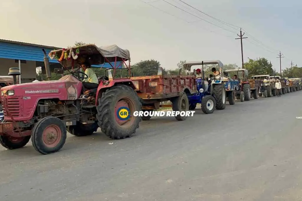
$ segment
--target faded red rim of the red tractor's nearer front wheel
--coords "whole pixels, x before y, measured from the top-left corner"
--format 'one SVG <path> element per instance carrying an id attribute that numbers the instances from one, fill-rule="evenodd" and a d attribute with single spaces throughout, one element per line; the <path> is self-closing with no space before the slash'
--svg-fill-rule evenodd
<path id="1" fill-rule="evenodd" d="M 62 131 L 57 125 L 49 125 L 43 131 L 43 142 L 47 147 L 55 147 L 59 144 Z"/>

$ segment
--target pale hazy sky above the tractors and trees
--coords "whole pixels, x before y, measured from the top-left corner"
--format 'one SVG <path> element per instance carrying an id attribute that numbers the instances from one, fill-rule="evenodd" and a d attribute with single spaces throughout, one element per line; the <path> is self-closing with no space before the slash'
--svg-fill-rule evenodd
<path id="1" fill-rule="evenodd" d="M 132 64 L 154 59 L 166 69 L 213 59 L 241 67 L 235 38 L 242 27 L 245 62 L 265 57 L 279 72 L 281 51 L 282 69 L 302 65 L 302 1 L 182 1 L 228 24 L 179 0 L 9 0 L 0 1 L 0 39 L 62 48 L 115 44 L 130 51 Z"/>

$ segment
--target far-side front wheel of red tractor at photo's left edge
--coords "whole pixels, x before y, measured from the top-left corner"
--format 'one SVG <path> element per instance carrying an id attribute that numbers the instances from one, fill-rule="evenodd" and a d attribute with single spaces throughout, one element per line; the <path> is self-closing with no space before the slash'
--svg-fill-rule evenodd
<path id="1" fill-rule="evenodd" d="M 25 137 L 11 137 L 11 136 L 0 136 L 0 143 L 6 149 L 19 149 L 24 147 L 31 139 L 31 136 Z"/>

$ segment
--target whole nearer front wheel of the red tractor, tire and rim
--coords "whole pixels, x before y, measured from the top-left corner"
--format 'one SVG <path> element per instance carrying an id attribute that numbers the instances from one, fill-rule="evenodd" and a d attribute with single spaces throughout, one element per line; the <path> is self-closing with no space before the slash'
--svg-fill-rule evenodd
<path id="1" fill-rule="evenodd" d="M 59 118 L 48 116 L 40 119 L 31 132 L 31 142 L 37 152 L 49 154 L 59 151 L 67 137 L 66 125 Z"/>

